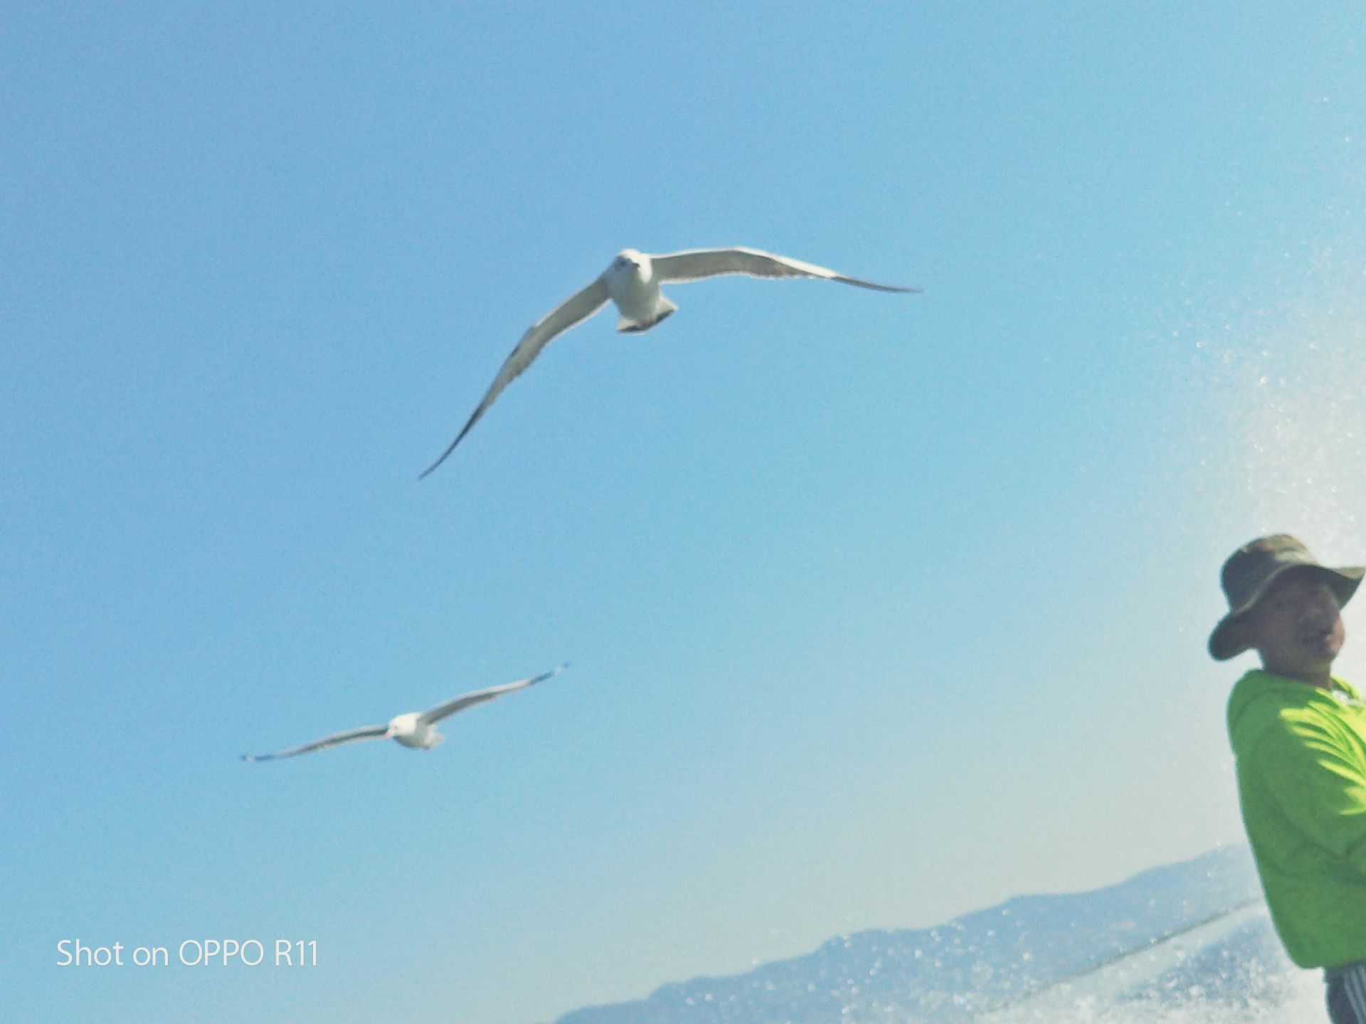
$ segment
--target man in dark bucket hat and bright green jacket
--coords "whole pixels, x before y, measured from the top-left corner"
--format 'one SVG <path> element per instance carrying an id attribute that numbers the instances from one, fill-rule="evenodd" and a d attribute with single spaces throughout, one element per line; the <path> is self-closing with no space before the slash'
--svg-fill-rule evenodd
<path id="1" fill-rule="evenodd" d="M 1261 537 L 1224 563 L 1229 610 L 1209 638 L 1217 661 L 1262 661 L 1228 699 L 1243 825 L 1276 933 L 1324 968 L 1333 1024 L 1366 1024 L 1366 703 L 1332 674 L 1363 575 Z"/>

